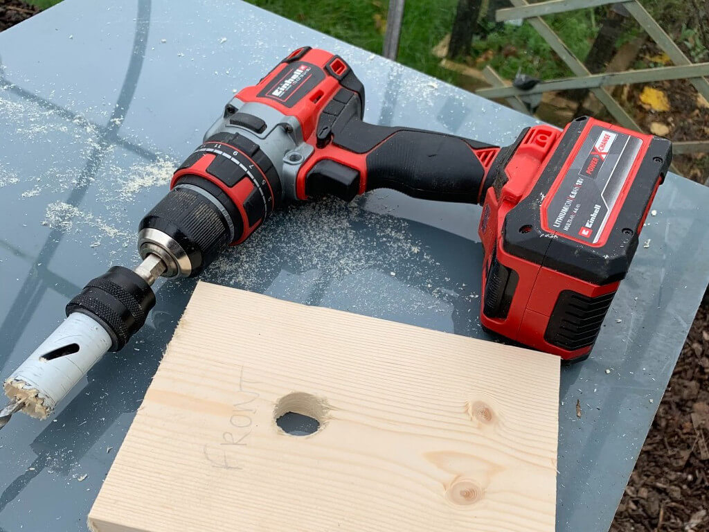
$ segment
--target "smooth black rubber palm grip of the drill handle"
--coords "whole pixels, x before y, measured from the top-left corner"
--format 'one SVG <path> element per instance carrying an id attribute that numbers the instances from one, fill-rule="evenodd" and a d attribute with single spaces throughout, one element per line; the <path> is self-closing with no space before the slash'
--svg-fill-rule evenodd
<path id="1" fill-rule="evenodd" d="M 379 126 L 362 123 L 377 135 Z M 391 131 L 391 128 L 383 128 Z M 396 130 L 367 155 L 367 190 L 394 189 L 408 196 L 477 203 L 485 169 L 473 148 L 487 145 L 429 131 Z"/>

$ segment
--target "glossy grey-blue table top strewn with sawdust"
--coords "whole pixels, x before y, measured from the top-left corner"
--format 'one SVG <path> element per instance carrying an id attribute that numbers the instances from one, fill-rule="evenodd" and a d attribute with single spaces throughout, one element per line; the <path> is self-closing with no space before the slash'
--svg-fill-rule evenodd
<path id="1" fill-rule="evenodd" d="M 65 0 L 0 34 L 2 375 L 88 279 L 135 264 L 139 219 L 233 89 L 306 44 L 350 62 L 368 121 L 495 144 L 533 123 L 238 1 Z M 562 368 L 558 531 L 605 531 L 613 519 L 708 281 L 708 205 L 708 189 L 667 177 L 643 229 L 649 247 L 638 249 L 591 358 Z M 487 338 L 478 217 L 476 206 L 387 191 L 324 201 L 273 216 L 203 278 Z M 85 529 L 193 287 L 163 284 L 143 331 L 61 411 L 45 423 L 16 416 L 0 433 L 0 531 Z"/>

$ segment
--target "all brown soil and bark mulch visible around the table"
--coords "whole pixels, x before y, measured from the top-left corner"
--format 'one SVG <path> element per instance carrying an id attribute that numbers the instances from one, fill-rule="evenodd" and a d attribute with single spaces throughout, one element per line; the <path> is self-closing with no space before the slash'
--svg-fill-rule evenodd
<path id="1" fill-rule="evenodd" d="M 0 0 L 0 31 L 39 10 L 21 0 Z M 673 140 L 705 138 L 708 112 L 686 82 L 654 85 L 669 94 L 674 113 L 648 112 L 643 125 L 661 121 Z M 622 99 L 639 98 L 633 87 Z M 696 114 L 696 116 L 693 116 Z M 693 118 L 688 121 L 687 118 Z M 678 157 L 681 171 L 703 181 L 709 156 Z M 657 416 L 625 488 L 612 532 L 709 532 L 709 303 L 698 310 Z"/>

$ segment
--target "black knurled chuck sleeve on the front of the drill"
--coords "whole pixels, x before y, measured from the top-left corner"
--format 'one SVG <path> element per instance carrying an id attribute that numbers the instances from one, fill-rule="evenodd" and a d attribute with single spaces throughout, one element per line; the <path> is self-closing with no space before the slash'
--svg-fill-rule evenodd
<path id="1" fill-rule="evenodd" d="M 206 196 L 175 188 L 140 221 L 140 230 L 152 228 L 171 236 L 189 257 L 190 277 L 199 275 L 226 248 L 230 228 L 225 214 Z"/>

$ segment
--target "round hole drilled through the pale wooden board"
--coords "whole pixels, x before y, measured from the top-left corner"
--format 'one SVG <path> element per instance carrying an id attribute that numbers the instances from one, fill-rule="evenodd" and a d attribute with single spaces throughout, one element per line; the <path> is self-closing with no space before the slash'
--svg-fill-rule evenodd
<path id="1" fill-rule="evenodd" d="M 328 410 L 324 399 L 293 392 L 277 401 L 273 417 L 281 432 L 290 436 L 309 436 L 322 430 Z"/>

